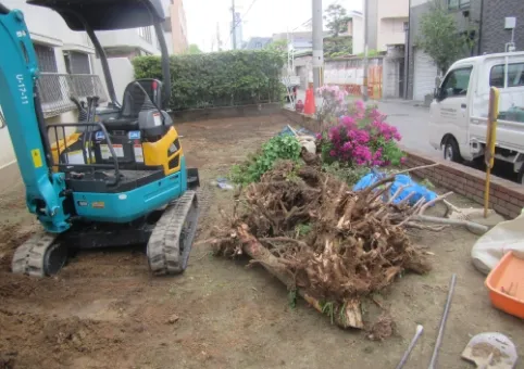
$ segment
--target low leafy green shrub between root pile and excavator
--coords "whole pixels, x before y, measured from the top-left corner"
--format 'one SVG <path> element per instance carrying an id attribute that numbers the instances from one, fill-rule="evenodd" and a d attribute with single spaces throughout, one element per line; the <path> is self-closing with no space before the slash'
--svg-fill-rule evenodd
<path id="1" fill-rule="evenodd" d="M 262 145 L 262 149 L 254 155 L 240 164 L 234 165 L 230 171 L 230 180 L 237 184 L 249 184 L 258 182 L 260 177 L 273 168 L 279 160 L 298 161 L 302 147 L 296 137 L 277 136 Z"/>

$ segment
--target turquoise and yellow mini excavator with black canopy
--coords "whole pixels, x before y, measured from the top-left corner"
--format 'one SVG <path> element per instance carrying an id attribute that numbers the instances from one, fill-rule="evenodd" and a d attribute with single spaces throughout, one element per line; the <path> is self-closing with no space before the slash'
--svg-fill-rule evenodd
<path id="1" fill-rule="evenodd" d="M 72 100 L 77 123 L 46 124 L 39 69 L 20 10 L 0 2 L 0 106 L 9 129 L 26 203 L 42 230 L 21 244 L 12 271 L 57 273 L 74 249 L 147 245 L 154 275 L 182 273 L 195 238 L 198 169 L 187 168 L 173 120 L 170 58 L 160 0 L 27 0 L 86 31 L 100 58 L 110 102 Z M 162 52 L 162 79 L 138 79 L 122 104 L 95 31 L 153 26 Z"/>

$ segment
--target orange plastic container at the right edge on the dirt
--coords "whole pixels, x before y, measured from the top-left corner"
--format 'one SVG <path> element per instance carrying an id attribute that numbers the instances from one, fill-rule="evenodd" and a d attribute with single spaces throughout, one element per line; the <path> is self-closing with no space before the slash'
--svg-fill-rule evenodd
<path id="1" fill-rule="evenodd" d="M 524 259 L 507 253 L 489 272 L 486 287 L 497 308 L 524 319 Z"/>

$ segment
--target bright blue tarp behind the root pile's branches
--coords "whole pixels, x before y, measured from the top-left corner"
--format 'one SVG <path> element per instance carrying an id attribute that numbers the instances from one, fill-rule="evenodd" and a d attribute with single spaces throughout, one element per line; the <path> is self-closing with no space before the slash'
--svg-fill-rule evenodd
<path id="1" fill-rule="evenodd" d="M 360 191 L 363 190 L 376 181 L 383 179 L 385 177 L 384 174 L 379 173 L 378 170 L 373 170 L 369 175 L 362 177 L 357 184 L 353 187 L 353 191 Z M 412 195 L 409 200 L 411 205 L 414 205 L 420 199 L 424 198 L 427 201 L 432 201 L 437 198 L 437 194 L 424 186 L 421 186 L 416 182 L 414 182 L 410 176 L 407 175 L 397 175 L 395 177 L 395 181 L 392 182 L 391 188 L 389 189 L 389 195 L 394 195 L 395 192 L 399 189 L 401 186 L 408 186 L 406 187 L 402 192 L 400 192 L 399 196 L 395 199 L 394 203 L 398 203 L 406 199 L 411 192 L 414 192 L 415 194 Z"/>

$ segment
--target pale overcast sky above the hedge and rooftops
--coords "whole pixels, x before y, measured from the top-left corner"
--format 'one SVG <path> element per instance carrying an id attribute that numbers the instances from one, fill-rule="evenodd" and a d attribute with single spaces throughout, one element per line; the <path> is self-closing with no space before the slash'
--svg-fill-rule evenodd
<path id="1" fill-rule="evenodd" d="M 253 2 L 254 1 L 254 2 Z M 339 3 L 346 10 L 362 10 L 362 0 L 323 0 L 323 8 Z M 244 15 L 244 40 L 250 37 L 271 37 L 299 27 L 311 18 L 311 0 L 235 0 L 235 8 Z M 229 23 L 232 0 L 184 0 L 189 43 L 211 51 L 212 42 L 216 50 L 216 25 L 219 24 L 224 49 L 229 49 Z M 297 30 L 305 30 L 299 28 Z"/>

